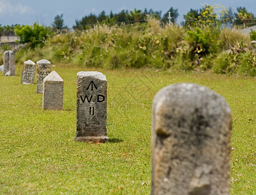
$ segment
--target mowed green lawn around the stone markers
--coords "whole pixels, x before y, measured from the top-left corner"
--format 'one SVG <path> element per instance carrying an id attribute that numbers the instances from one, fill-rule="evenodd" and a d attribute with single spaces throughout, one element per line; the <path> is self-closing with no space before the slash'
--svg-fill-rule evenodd
<path id="1" fill-rule="evenodd" d="M 36 85 L 20 84 L 21 70 L 16 65 L 16 77 L 0 72 L 0 194 L 150 194 L 152 99 L 173 83 L 205 85 L 229 103 L 231 194 L 256 194 L 254 77 L 57 64 L 63 110 L 46 111 Z M 107 77 L 106 144 L 74 142 L 79 71 Z"/>

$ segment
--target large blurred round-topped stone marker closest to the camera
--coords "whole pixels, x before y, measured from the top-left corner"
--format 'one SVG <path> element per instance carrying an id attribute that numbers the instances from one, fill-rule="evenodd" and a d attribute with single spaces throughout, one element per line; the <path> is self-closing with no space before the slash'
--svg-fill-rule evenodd
<path id="1" fill-rule="evenodd" d="M 231 110 L 205 86 L 170 85 L 152 105 L 152 194 L 229 194 Z"/>

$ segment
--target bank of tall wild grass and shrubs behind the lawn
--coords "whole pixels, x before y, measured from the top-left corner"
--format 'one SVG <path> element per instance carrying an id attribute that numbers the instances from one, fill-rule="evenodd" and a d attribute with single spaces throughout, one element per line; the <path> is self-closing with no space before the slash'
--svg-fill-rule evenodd
<path id="1" fill-rule="evenodd" d="M 214 67 L 217 73 L 255 75 L 254 70 L 248 70 L 253 68 L 253 64 L 248 64 L 247 68 L 235 68 L 232 72 L 225 69 L 228 66 L 218 65 L 221 62 L 219 57 L 223 58 L 221 52 L 236 45 L 241 46 L 239 52 L 242 53 L 251 49 L 249 35 L 238 30 L 221 29 L 216 25 L 179 27 L 162 25 L 156 19 L 149 19 L 147 23 L 98 24 L 85 31 L 56 34 L 46 41 L 44 47 L 31 49 L 28 44 L 18 49 L 16 61 L 22 64 L 29 59 L 35 62 L 48 59 L 53 64 L 63 62 L 106 69 L 147 66 L 201 71 Z M 240 62 L 253 62 L 248 59 L 250 55 L 240 57 Z M 236 66 L 242 66 L 240 62 Z"/>

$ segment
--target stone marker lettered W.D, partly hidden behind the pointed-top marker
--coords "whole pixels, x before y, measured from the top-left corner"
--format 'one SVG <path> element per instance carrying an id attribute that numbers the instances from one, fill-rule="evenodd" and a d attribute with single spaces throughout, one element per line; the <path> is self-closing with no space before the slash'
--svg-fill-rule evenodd
<path id="1" fill-rule="evenodd" d="M 48 60 L 40 60 L 36 62 L 37 66 L 37 90 L 36 93 L 42 94 L 44 78 L 51 72 L 51 62 Z"/>

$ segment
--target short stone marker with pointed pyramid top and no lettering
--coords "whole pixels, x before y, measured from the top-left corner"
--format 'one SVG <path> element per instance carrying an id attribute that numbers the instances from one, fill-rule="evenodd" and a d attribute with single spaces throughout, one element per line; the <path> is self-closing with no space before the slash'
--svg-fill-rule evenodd
<path id="1" fill-rule="evenodd" d="M 63 109 L 63 79 L 53 71 L 44 78 L 42 107 L 44 110 Z"/>

